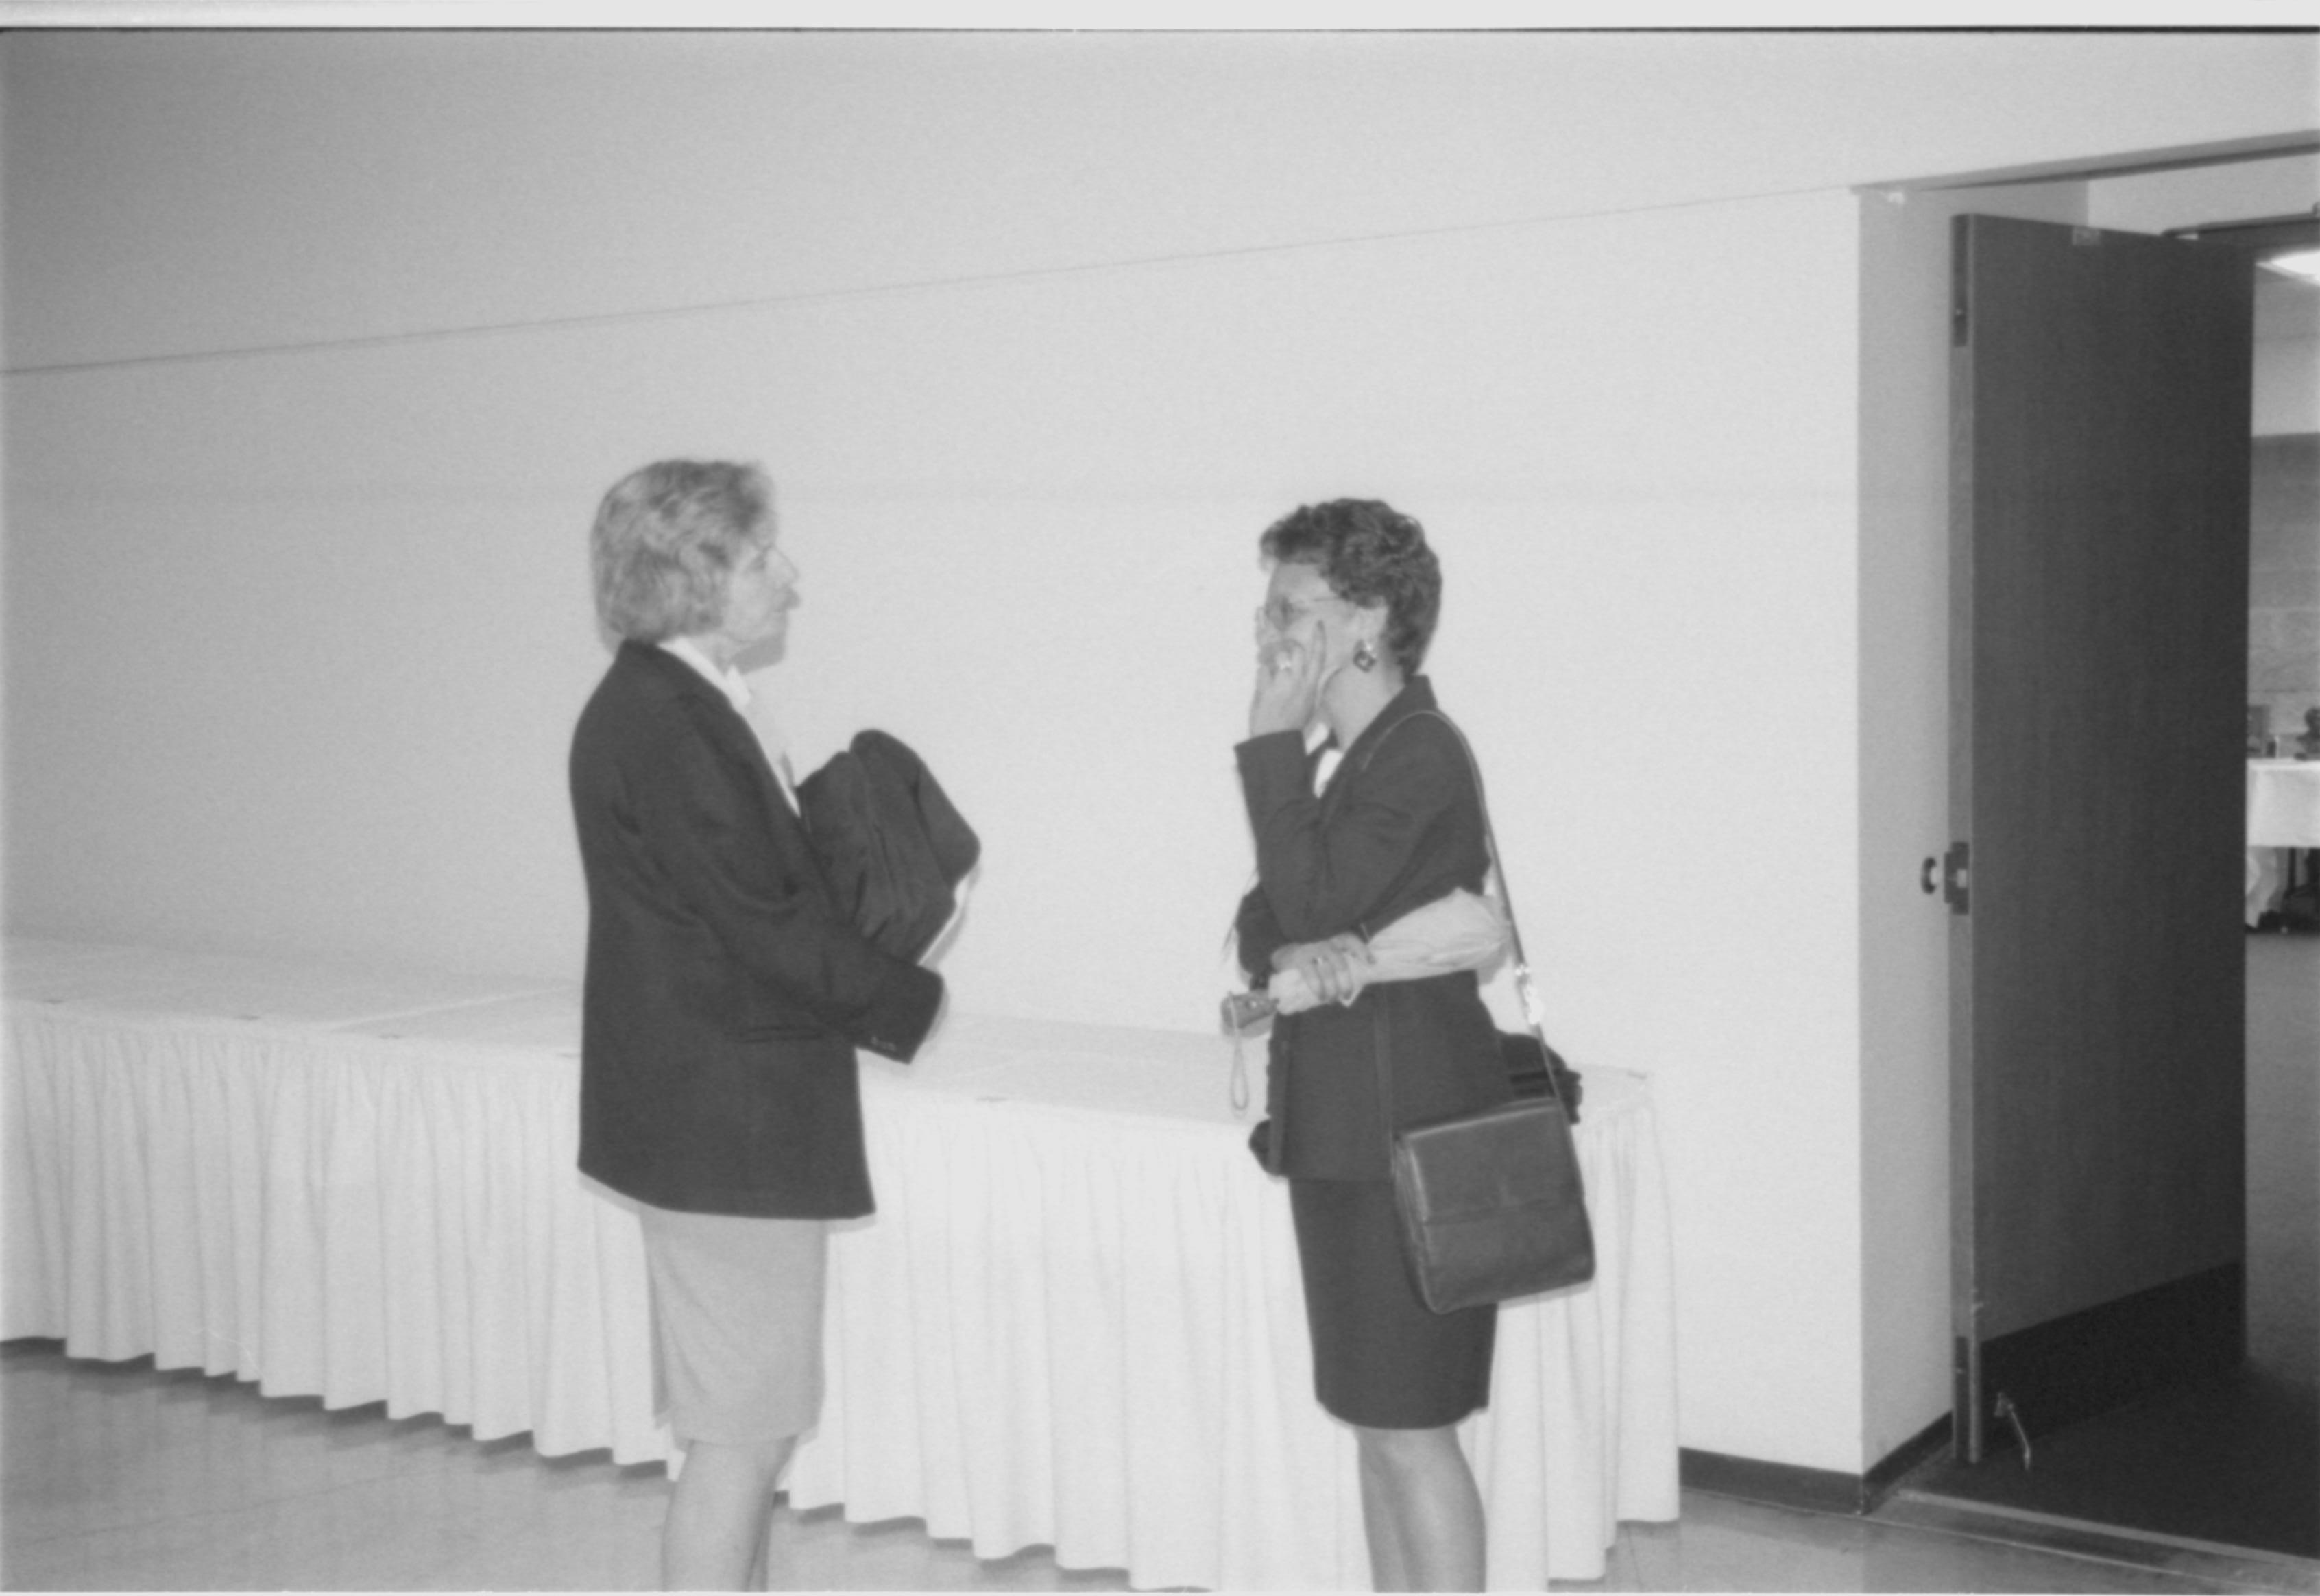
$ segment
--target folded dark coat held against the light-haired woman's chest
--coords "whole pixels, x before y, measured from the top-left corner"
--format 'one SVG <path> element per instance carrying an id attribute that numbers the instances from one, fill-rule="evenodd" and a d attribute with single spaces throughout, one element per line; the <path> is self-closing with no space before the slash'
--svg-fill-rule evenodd
<path id="1" fill-rule="evenodd" d="M 854 928 L 896 958 L 919 958 L 958 909 L 984 844 L 909 745 L 884 731 L 798 784 L 798 810 Z"/>

